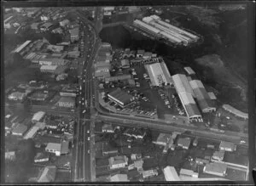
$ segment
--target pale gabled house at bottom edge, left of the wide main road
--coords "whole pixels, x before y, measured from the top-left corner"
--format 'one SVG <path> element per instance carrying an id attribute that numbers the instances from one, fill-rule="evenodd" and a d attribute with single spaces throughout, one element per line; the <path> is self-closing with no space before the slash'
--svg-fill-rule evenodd
<path id="1" fill-rule="evenodd" d="M 45 166 L 43 172 L 39 173 L 38 183 L 52 183 L 55 181 L 56 166 Z"/>

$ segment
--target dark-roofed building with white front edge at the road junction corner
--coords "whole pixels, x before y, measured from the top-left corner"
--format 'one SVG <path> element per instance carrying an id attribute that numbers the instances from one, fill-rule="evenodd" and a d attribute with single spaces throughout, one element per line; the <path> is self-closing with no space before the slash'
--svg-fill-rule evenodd
<path id="1" fill-rule="evenodd" d="M 125 107 L 127 104 L 131 104 L 131 102 L 134 100 L 130 94 L 122 91 L 120 88 L 117 88 L 113 92 L 108 93 L 108 98 L 119 104 L 121 107 Z"/>

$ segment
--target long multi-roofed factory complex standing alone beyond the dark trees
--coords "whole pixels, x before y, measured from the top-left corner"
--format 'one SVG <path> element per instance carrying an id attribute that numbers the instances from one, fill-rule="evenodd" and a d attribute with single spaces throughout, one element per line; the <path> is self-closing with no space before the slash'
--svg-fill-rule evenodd
<path id="1" fill-rule="evenodd" d="M 184 31 L 174 25 L 160 20 L 160 17 L 157 15 L 144 17 L 143 21 L 134 20 L 133 24 L 141 28 L 143 31 L 148 31 L 155 36 L 166 38 L 170 42 L 176 44 L 183 44 L 187 46 L 189 43 L 196 42 L 199 39 L 199 37 L 189 33 L 188 31 Z"/>

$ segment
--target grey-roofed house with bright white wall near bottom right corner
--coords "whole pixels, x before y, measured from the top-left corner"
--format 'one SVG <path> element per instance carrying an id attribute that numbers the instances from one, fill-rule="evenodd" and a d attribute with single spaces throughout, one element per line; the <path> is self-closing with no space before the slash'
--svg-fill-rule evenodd
<path id="1" fill-rule="evenodd" d="M 226 175 L 227 165 L 223 163 L 209 163 L 204 166 L 203 172 L 207 174 L 216 175 L 219 177 L 224 177 Z"/>

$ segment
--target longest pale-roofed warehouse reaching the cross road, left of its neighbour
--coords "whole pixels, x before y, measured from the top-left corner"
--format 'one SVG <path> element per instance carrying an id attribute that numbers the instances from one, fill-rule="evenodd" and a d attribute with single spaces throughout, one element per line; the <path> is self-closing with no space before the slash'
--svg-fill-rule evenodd
<path id="1" fill-rule="evenodd" d="M 172 76 L 174 87 L 176 88 L 177 95 L 181 100 L 183 107 L 186 111 L 189 121 L 197 121 L 201 119 L 201 113 L 197 108 L 193 98 L 193 90 L 190 87 L 187 77 L 183 74 L 176 74 Z"/>

